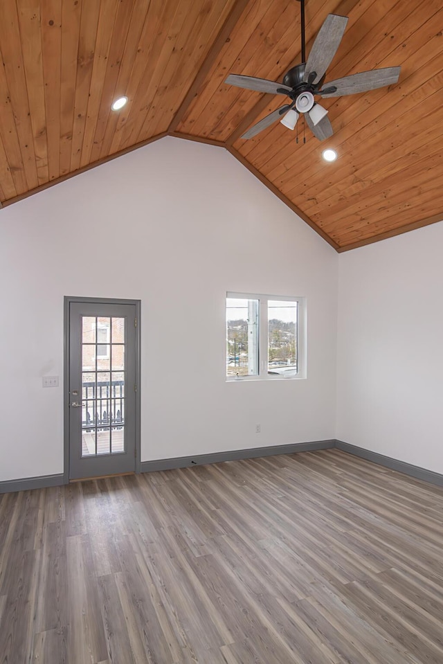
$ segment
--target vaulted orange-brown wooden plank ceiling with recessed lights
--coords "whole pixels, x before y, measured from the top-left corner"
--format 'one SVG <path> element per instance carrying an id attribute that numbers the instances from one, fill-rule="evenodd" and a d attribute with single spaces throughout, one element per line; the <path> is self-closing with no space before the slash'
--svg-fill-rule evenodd
<path id="1" fill-rule="evenodd" d="M 296 0 L 1 0 L 1 203 L 171 134 L 229 150 L 337 251 L 443 219 L 442 0 L 307 0 L 308 53 L 328 13 L 349 22 L 327 80 L 400 79 L 325 99 L 334 136 L 299 121 L 297 144 L 280 123 L 239 138 L 282 98 L 224 84 L 300 63 Z"/>

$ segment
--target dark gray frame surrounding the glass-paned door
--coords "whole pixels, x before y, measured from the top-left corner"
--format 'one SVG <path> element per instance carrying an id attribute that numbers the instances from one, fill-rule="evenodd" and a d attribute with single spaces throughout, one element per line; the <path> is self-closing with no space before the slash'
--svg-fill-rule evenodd
<path id="1" fill-rule="evenodd" d="M 71 302 L 80 302 L 88 304 L 107 304 L 107 305 L 135 305 L 136 307 L 136 463 L 135 472 L 141 472 L 141 300 L 126 300 L 120 298 L 82 298 L 74 296 L 64 296 L 64 334 L 63 334 L 63 356 L 64 356 L 64 374 L 63 374 L 63 429 L 64 429 L 64 463 L 63 463 L 63 483 L 69 484 L 69 312 Z"/>

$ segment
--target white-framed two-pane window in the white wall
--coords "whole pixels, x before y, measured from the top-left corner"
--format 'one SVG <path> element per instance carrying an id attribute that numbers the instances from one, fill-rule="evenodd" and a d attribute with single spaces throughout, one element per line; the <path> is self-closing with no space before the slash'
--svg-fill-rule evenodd
<path id="1" fill-rule="evenodd" d="M 305 299 L 226 294 L 226 377 L 305 378 Z"/>

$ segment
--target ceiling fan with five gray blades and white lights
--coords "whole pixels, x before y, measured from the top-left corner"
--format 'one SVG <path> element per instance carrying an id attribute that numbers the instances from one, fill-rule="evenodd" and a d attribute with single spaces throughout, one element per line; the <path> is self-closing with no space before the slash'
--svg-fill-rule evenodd
<path id="1" fill-rule="evenodd" d="M 291 102 L 257 122 L 242 135 L 242 138 L 253 138 L 263 129 L 269 127 L 275 120 L 289 129 L 294 129 L 300 114 L 304 114 L 311 132 L 323 141 L 334 134 L 332 125 L 327 118 L 327 110 L 315 101 L 315 96 L 323 98 L 341 97 L 358 92 L 367 92 L 376 88 L 397 83 L 400 67 L 387 67 L 351 74 L 343 78 L 329 81 L 325 84 L 326 70 L 331 64 L 348 21 L 347 16 L 336 14 L 327 15 L 323 26 L 312 45 L 309 57 L 305 55 L 305 0 L 299 0 L 301 6 L 301 56 L 302 63 L 289 69 L 284 75 L 283 82 L 277 83 L 265 78 L 254 78 L 240 74 L 230 74 L 225 83 L 257 92 L 282 94 L 289 97 Z"/>

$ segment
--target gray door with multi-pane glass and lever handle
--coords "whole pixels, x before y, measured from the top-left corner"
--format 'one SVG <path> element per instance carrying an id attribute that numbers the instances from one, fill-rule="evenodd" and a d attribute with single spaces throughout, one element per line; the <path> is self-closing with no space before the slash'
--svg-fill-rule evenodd
<path id="1" fill-rule="evenodd" d="M 69 303 L 69 478 L 136 467 L 136 304 Z"/>

